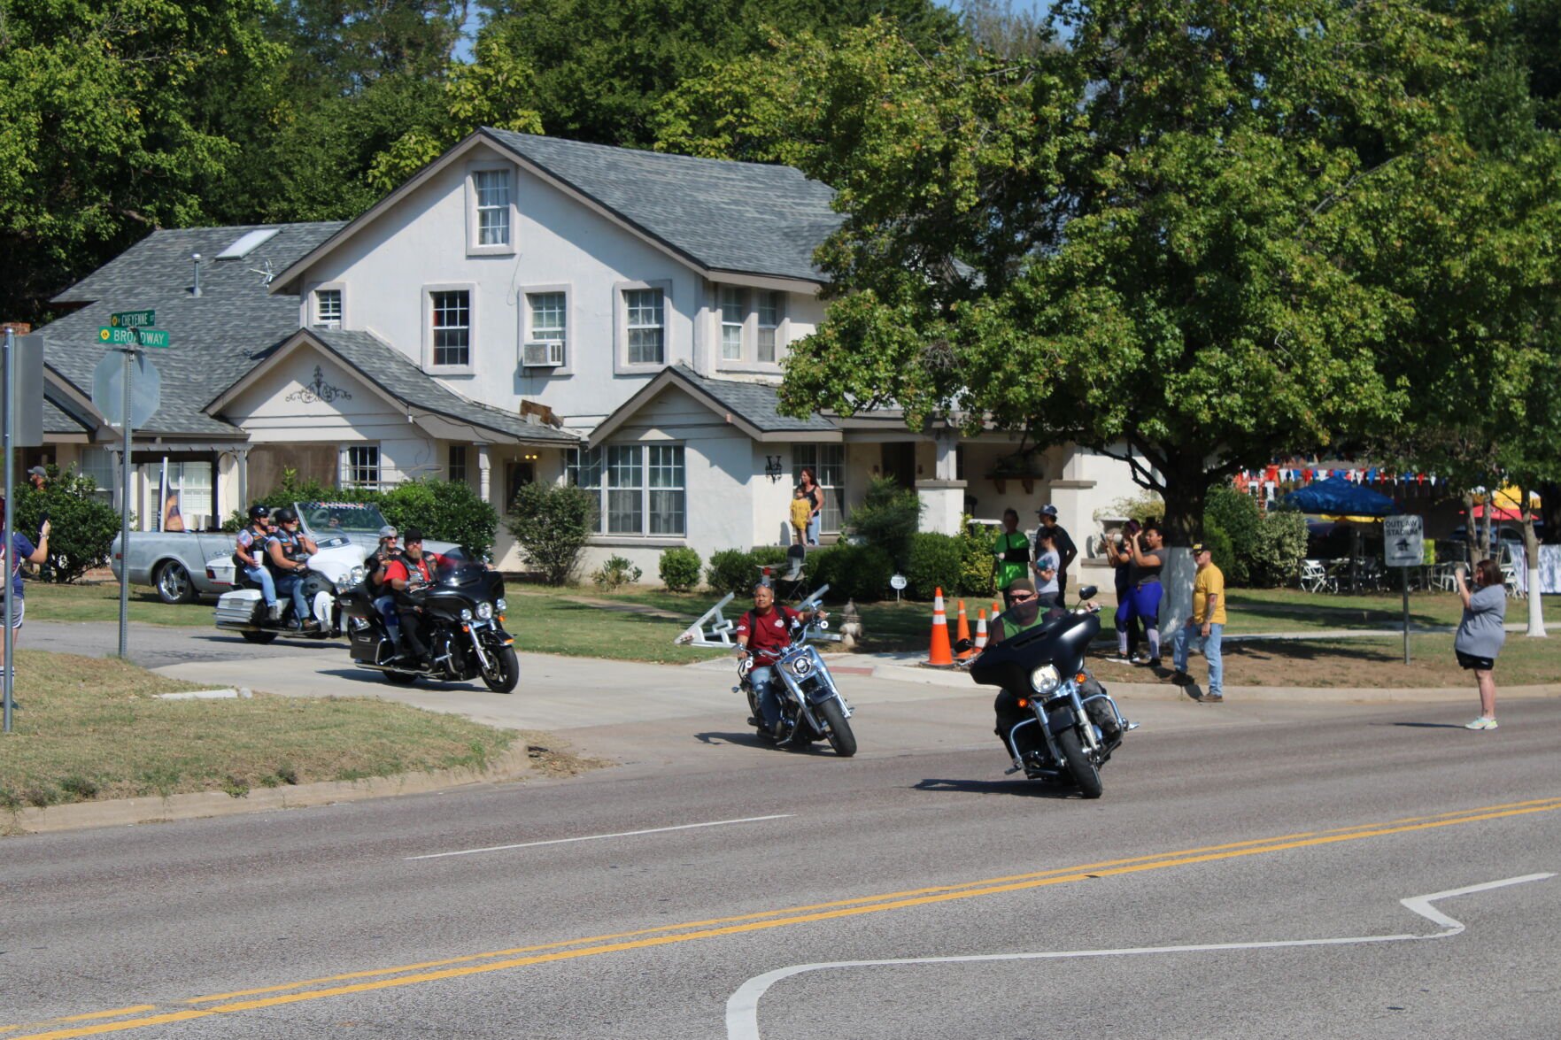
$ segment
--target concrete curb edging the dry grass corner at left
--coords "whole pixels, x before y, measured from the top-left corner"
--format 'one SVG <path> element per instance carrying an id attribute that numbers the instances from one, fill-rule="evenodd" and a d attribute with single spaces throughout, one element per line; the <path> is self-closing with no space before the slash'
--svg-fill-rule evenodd
<path id="1" fill-rule="evenodd" d="M 244 798 L 234 798 L 220 790 L 169 795 L 167 798 L 117 798 L 108 801 L 80 801 L 67 806 L 28 807 L 0 815 L 0 832 L 48 834 L 55 831 L 80 831 L 84 828 L 109 828 L 128 823 L 172 823 L 175 820 L 201 820 L 206 817 L 236 817 L 281 809 L 306 809 L 345 801 L 367 801 L 395 795 L 421 795 L 451 787 L 473 784 L 498 784 L 520 779 L 531 771 L 531 757 L 524 740 L 517 740 L 492 765 L 482 770 L 459 767 L 401 773 L 398 776 L 370 776 L 361 781 L 322 781 L 297 787 L 262 787 Z"/>

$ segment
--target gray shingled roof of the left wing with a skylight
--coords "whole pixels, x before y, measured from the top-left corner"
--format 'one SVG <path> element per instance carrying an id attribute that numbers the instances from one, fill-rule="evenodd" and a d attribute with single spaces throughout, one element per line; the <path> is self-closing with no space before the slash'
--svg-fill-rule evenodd
<path id="1" fill-rule="evenodd" d="M 258 228 L 279 233 L 242 259 L 214 259 Z M 340 228 L 329 222 L 153 231 L 55 297 L 86 306 L 39 329 L 44 359 L 91 395 L 92 370 L 106 353 L 98 326 L 114 311 L 155 309 L 172 347 L 147 351 L 162 376 L 162 406 L 145 431 L 242 439 L 240 429 L 203 411 L 206 401 L 248 372 L 261 351 L 298 329 L 298 297 L 268 294 L 262 272 L 270 264 L 281 273 Z M 190 294 L 192 253 L 203 258 L 200 298 Z"/>

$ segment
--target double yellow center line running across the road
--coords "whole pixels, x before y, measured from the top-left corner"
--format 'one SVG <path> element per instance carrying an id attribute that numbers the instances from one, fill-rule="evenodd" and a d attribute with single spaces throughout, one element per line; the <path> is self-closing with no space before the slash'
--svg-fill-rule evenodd
<path id="1" fill-rule="evenodd" d="M 158 1015 L 128 1018 L 123 1021 L 67 1026 L 64 1029 L 50 1029 L 47 1032 L 19 1035 L 12 1037 L 11 1040 L 67 1040 L 69 1037 L 89 1037 L 105 1032 L 119 1032 L 125 1029 L 142 1029 L 147 1026 L 192 1021 L 197 1018 L 208 1018 L 212 1015 L 226 1015 L 233 1012 L 278 1007 L 284 1004 L 315 1001 L 329 996 L 370 993 L 375 990 L 398 988 L 404 985 L 420 985 L 425 982 L 437 982 L 442 979 L 454 979 L 471 974 L 485 974 L 489 971 L 506 971 L 510 968 L 521 968 L 539 963 L 576 960 L 582 957 L 596 957 L 603 954 L 626 953 L 632 949 L 651 949 L 656 946 L 670 946 L 676 943 L 688 943 L 704 938 L 740 935 L 746 932 L 788 928 L 793 924 L 841 920 L 848 917 L 860 917 L 865 914 L 882 914 L 885 910 L 901 910 L 918 906 L 952 903 L 957 899 L 973 899 L 979 896 L 1024 892 L 1030 889 L 1044 889 L 1051 885 L 1069 884 L 1085 879 L 1133 874 L 1149 870 L 1165 870 L 1169 867 L 1189 867 L 1194 864 L 1208 864 L 1225 859 L 1238 859 L 1244 856 L 1266 856 L 1271 853 L 1282 853 L 1297 848 L 1325 846 L 1325 845 L 1336 845 L 1341 842 L 1358 842 L 1361 839 L 1386 837 L 1391 834 L 1433 831 L 1439 828 L 1458 826 L 1463 823 L 1481 823 L 1488 820 L 1522 817 L 1538 812 L 1553 812 L 1556 809 L 1561 809 L 1561 798 L 1539 798 L 1533 801 L 1509 803 L 1503 806 L 1488 806 L 1485 809 L 1445 812 L 1433 817 L 1411 817 L 1402 821 L 1388 821 L 1388 823 L 1366 825 L 1357 828 L 1338 828 L 1333 831 L 1321 831 L 1321 832 L 1286 834 L 1271 839 L 1258 839 L 1252 842 L 1233 842 L 1229 845 L 1211 845 L 1204 848 L 1183 849 L 1179 853 L 1160 853 L 1152 856 L 1105 860 L 1102 864 L 1094 864 L 1086 867 L 1069 867 L 1069 868 L 1038 871 L 1030 874 L 990 878 L 987 881 L 974 881 L 974 882 L 966 882 L 963 885 L 913 889 L 907 892 L 894 892 L 879 896 L 865 896 L 859 899 L 840 899 L 834 903 L 818 903 L 810 906 L 790 907 L 784 910 L 770 910 L 762 914 L 748 914 L 727 918 L 712 918 L 707 921 L 688 921 L 684 924 L 670 924 L 657 929 L 643 929 L 638 932 L 598 935 L 593 938 L 545 943 L 542 946 L 521 946 L 510 951 L 498 951 L 493 954 L 471 954 L 467 957 L 453 957 L 450 960 L 432 960 L 420 965 L 404 965 L 401 968 L 357 971 L 340 976 L 328 976 L 323 979 L 315 979 L 312 982 L 293 982 L 289 985 L 265 987 L 261 990 L 247 990 L 222 996 L 195 998 L 186 1003 L 192 1004 L 209 1003 L 209 1001 L 228 1001 L 228 1003 L 222 1003 L 212 1007 L 170 1010 Z M 695 929 L 695 931 L 679 931 L 679 929 Z M 526 954 L 526 956 L 510 956 L 510 954 Z M 492 960 L 492 957 L 501 957 L 501 959 Z M 470 963 L 471 960 L 482 960 L 482 959 L 490 959 L 490 960 L 487 963 Z M 429 970 L 429 968 L 437 968 L 437 970 Z M 412 974 L 396 974 L 406 971 L 412 971 Z M 384 978 L 384 976 L 393 976 L 393 978 Z M 292 993 L 278 992 L 278 990 L 298 990 L 300 987 L 311 984 L 318 985 L 320 982 L 339 982 L 357 978 L 368 978 L 370 981 L 350 982 L 345 985 L 329 985 L 326 988 L 311 988 Z M 261 993 L 273 993 L 273 995 L 258 996 Z M 250 995 L 256 995 L 256 998 L 231 999 Z M 53 1021 L 70 1023 L 84 1018 L 103 1018 L 111 1015 L 139 1013 L 142 1010 L 153 1010 L 155 1007 L 156 1006 L 148 1004 L 148 1006 L 120 1009 L 117 1012 L 95 1012 L 92 1015 L 58 1018 Z"/>

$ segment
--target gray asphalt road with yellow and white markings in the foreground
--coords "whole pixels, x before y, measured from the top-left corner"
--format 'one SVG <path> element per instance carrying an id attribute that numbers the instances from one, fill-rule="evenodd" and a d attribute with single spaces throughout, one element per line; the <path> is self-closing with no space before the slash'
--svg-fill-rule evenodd
<path id="1" fill-rule="evenodd" d="M 1086 803 L 983 693 L 848 681 L 840 760 L 545 667 L 626 765 L 0 842 L 0 1037 L 1558 1035 L 1561 878 L 1461 890 L 1561 871 L 1561 701 L 1135 703 Z"/>

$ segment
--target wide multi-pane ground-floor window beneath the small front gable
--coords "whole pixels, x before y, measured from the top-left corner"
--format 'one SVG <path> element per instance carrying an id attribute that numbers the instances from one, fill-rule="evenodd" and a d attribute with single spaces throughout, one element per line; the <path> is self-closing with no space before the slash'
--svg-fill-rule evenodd
<path id="1" fill-rule="evenodd" d="M 596 531 L 606 534 L 687 534 L 684 447 L 615 443 L 590 451 L 570 450 L 565 481 L 595 495 Z"/>

